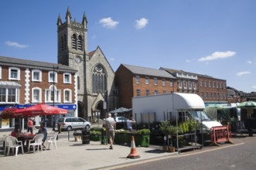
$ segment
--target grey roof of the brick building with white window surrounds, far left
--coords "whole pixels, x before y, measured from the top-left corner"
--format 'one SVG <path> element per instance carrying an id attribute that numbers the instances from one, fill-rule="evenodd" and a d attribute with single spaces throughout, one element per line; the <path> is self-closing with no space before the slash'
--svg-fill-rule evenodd
<path id="1" fill-rule="evenodd" d="M 55 68 L 58 66 L 59 67 L 58 70 L 60 71 L 67 71 L 70 73 L 77 72 L 77 70 L 74 70 L 70 66 L 65 66 L 62 64 L 33 61 L 28 59 L 17 59 L 17 58 L 6 57 L 6 56 L 0 56 L 0 63 L 2 66 L 26 67 L 26 68 L 38 69 L 38 70 L 52 70 L 53 66 Z"/>

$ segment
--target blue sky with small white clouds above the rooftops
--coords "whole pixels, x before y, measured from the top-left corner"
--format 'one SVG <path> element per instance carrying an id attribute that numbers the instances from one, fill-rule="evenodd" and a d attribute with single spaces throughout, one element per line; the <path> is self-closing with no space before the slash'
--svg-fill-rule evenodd
<path id="1" fill-rule="evenodd" d="M 57 18 L 87 15 L 87 49 L 121 63 L 207 74 L 256 91 L 254 0 L 0 1 L 0 56 L 57 63 Z"/>

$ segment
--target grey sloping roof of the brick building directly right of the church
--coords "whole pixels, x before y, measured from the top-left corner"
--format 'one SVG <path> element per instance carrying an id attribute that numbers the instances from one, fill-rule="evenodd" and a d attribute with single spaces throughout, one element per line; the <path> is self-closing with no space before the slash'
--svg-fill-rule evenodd
<path id="1" fill-rule="evenodd" d="M 167 73 L 165 70 L 151 69 L 151 68 L 146 68 L 142 66 L 131 66 L 128 64 L 121 64 L 121 65 L 125 66 L 132 73 L 147 75 L 147 76 L 160 76 L 160 77 L 176 79 L 175 76 L 172 76 L 172 74 Z"/>

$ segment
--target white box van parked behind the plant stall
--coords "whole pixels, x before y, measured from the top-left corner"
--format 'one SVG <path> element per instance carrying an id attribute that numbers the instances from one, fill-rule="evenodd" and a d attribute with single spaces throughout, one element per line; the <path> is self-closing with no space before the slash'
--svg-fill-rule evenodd
<path id="1" fill-rule="evenodd" d="M 200 133 L 209 133 L 210 128 L 222 126 L 213 120 L 205 111 L 204 102 L 195 93 L 168 93 L 148 97 L 132 98 L 132 117 L 137 124 L 161 122 L 162 120 L 184 121 L 193 117 L 202 122 Z"/>

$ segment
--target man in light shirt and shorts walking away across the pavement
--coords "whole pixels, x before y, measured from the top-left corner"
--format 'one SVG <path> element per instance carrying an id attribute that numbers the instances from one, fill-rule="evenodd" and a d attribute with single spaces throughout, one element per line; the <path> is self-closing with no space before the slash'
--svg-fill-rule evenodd
<path id="1" fill-rule="evenodd" d="M 109 139 L 110 149 L 113 149 L 113 142 L 114 142 L 114 131 L 116 129 L 114 118 L 111 117 L 111 114 L 108 114 L 108 118 L 105 120 L 105 128 L 107 138 Z"/>

